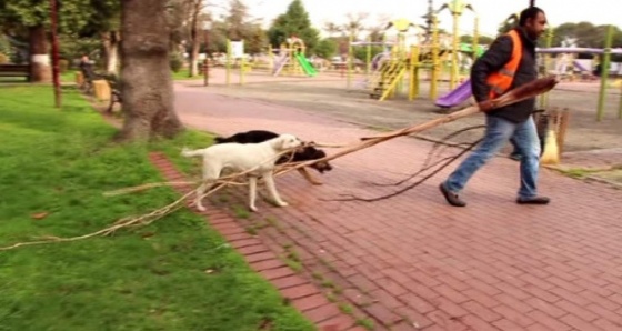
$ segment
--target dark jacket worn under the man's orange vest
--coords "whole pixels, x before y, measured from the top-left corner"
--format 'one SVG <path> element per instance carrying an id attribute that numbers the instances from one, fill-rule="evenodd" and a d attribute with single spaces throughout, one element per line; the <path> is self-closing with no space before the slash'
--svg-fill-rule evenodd
<path id="1" fill-rule="evenodd" d="M 514 89 L 524 83 L 538 79 L 538 68 L 535 62 L 535 41 L 531 40 L 523 29 L 515 28 L 521 36 L 523 43 L 523 52 L 519 69 L 514 74 L 512 86 Z M 490 88 L 486 84 L 486 78 L 495 71 L 499 71 L 505 63 L 510 61 L 512 56 L 512 39 L 509 36 L 500 36 L 490 46 L 488 51 L 480 57 L 471 69 L 471 88 L 473 97 L 478 102 L 489 99 Z M 535 109 L 535 98 L 523 100 L 514 104 L 499 108 L 490 111 L 489 116 L 495 116 L 520 123 L 529 119 Z"/>

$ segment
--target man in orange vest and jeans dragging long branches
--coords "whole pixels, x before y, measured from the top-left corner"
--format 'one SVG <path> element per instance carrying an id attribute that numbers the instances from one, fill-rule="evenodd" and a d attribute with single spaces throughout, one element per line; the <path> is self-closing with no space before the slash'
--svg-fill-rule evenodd
<path id="1" fill-rule="evenodd" d="M 478 148 L 441 183 L 440 189 L 449 204 L 465 207 L 460 199 L 469 179 L 485 164 L 510 139 L 521 153 L 521 184 L 516 202 L 546 204 L 549 198 L 536 190 L 540 167 L 540 142 L 533 122 L 535 98 L 499 109 L 490 100 L 504 92 L 538 79 L 535 43 L 544 32 L 546 16 L 538 7 L 523 10 L 519 27 L 499 37 L 471 69 L 473 96 L 485 112 L 486 130 Z"/>

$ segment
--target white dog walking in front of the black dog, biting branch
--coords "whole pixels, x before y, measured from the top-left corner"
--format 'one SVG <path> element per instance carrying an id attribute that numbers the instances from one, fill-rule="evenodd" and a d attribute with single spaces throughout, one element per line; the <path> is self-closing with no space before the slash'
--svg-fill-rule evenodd
<path id="1" fill-rule="evenodd" d="M 257 180 L 263 178 L 265 187 L 272 195 L 272 200 L 279 207 L 288 205 L 281 200 L 274 185 L 272 171 L 274 163 L 281 152 L 302 146 L 302 141 L 292 134 L 281 134 L 277 138 L 260 143 L 220 143 L 205 149 L 187 150 L 181 154 L 184 157 L 203 157 L 203 182 L 197 189 L 194 203 L 200 211 L 204 211 L 201 202 L 207 189 L 227 172 L 247 172 L 249 178 L 249 208 L 257 211 L 254 204 L 257 198 Z"/>

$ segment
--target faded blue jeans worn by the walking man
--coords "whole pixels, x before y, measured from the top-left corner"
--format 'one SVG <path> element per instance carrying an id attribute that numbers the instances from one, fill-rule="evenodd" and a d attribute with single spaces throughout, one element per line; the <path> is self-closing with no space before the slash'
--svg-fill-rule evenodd
<path id="1" fill-rule="evenodd" d="M 519 198 L 533 198 L 538 194 L 536 182 L 540 168 L 540 141 L 533 117 L 522 123 L 486 116 L 484 139 L 475 150 L 449 175 L 444 185 L 459 193 L 471 177 L 512 139 L 521 153 L 521 188 Z"/>

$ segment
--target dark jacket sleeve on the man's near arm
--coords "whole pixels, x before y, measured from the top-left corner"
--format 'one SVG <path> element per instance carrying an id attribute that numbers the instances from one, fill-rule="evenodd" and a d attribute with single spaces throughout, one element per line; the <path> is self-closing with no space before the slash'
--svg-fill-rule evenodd
<path id="1" fill-rule="evenodd" d="M 471 89 L 478 102 L 489 99 L 490 87 L 488 77 L 499 71 L 512 57 L 512 39 L 509 36 L 496 38 L 486 52 L 484 52 L 471 68 Z"/>

